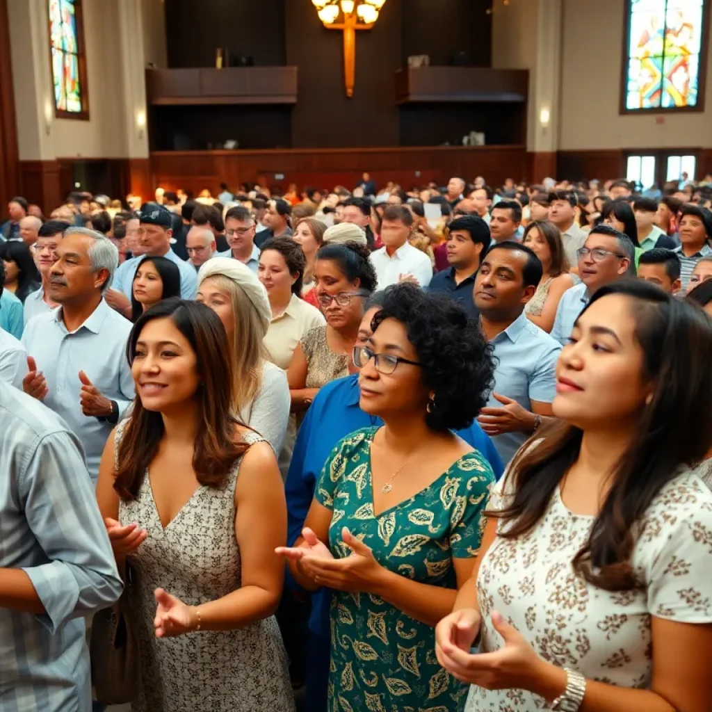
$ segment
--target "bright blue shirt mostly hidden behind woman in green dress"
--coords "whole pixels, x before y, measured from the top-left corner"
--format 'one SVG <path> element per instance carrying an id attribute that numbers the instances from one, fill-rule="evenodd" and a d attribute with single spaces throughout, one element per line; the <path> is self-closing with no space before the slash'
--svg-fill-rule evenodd
<path id="1" fill-rule="evenodd" d="M 380 418 L 360 409 L 359 399 L 358 375 L 351 375 L 320 389 L 307 411 L 294 446 L 286 483 L 289 545 L 301 534 L 314 498 L 316 481 L 337 442 L 360 428 L 383 424 Z M 496 478 L 502 476 L 502 460 L 477 422 L 457 434 L 489 461 Z M 295 587 L 290 577 L 287 583 Z M 329 604 L 328 590 L 319 590 L 312 596 L 309 627 L 323 637 L 329 636 Z"/>

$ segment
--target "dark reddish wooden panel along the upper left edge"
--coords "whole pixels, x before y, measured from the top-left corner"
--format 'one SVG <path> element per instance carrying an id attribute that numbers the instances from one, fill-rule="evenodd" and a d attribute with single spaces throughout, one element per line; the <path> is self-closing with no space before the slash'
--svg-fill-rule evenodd
<path id="1" fill-rule="evenodd" d="M 2 206 L 20 191 L 18 151 L 7 0 L 0 0 L 0 204 Z"/>

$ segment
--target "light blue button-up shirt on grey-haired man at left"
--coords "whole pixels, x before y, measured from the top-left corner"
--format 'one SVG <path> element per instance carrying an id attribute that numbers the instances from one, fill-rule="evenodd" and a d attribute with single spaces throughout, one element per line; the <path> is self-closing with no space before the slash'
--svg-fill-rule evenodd
<path id="1" fill-rule="evenodd" d="M 94 481 L 113 426 L 83 414 L 79 372 L 85 372 L 105 398 L 117 402 L 121 418 L 135 395 L 125 355 L 131 326 L 102 299 L 94 313 L 73 332 L 67 331 L 59 308 L 33 318 L 22 338 L 28 355 L 47 379 L 49 392 L 44 404 L 61 416 L 79 438 Z"/>

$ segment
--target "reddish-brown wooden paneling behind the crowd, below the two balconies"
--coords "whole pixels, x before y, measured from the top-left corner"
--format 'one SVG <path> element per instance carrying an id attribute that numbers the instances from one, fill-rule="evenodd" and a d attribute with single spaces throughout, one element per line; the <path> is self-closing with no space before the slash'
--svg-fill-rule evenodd
<path id="1" fill-rule="evenodd" d="M 484 175 L 501 184 L 507 177 L 519 179 L 526 170 L 523 146 L 414 147 L 387 149 L 314 149 L 286 151 L 188 151 L 153 152 L 151 171 L 156 185 L 216 192 L 221 181 L 232 187 L 246 181 L 353 187 L 364 171 L 377 182 L 396 180 L 404 187 L 436 180 L 445 184 L 455 174 L 473 179 Z M 420 175 L 418 175 L 418 172 Z M 283 175 L 277 179 L 276 175 Z"/>

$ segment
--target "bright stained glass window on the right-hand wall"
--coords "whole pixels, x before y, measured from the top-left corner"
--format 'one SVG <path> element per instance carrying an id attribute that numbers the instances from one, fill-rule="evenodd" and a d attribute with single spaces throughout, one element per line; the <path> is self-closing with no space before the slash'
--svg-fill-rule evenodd
<path id="1" fill-rule="evenodd" d="M 704 0 L 629 0 L 624 108 L 701 108 Z"/>

